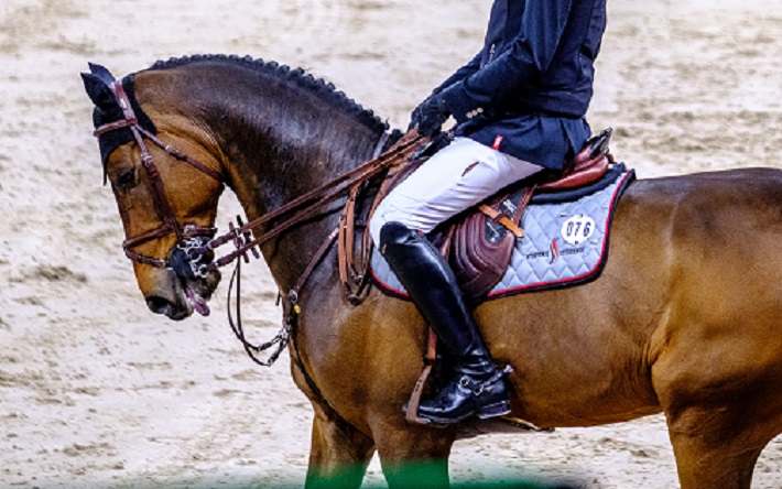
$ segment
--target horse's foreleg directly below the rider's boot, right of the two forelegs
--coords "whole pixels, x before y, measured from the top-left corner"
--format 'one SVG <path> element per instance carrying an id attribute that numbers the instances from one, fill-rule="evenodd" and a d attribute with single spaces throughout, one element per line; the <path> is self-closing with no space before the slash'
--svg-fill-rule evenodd
<path id="1" fill-rule="evenodd" d="M 373 426 L 380 465 L 389 488 L 447 488 L 448 456 L 454 428 L 410 425 L 398 415 L 393 422 Z"/>

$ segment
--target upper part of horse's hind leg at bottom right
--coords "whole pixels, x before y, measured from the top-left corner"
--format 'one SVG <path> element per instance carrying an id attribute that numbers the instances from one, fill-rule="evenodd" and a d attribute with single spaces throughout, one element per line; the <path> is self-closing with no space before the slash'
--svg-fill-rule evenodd
<path id="1" fill-rule="evenodd" d="M 687 409 L 669 414 L 669 433 L 682 489 L 749 489 L 768 439 L 735 412 Z"/>

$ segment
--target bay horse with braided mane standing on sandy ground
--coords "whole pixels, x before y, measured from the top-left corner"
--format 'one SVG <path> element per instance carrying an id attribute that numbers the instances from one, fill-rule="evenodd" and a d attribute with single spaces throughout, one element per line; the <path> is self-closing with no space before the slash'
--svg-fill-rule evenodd
<path id="1" fill-rule="evenodd" d="M 83 74 L 98 116 L 118 107 L 104 72 Z M 162 143 L 142 151 L 137 139 L 116 141 L 105 171 L 129 253 L 143 258 L 133 262 L 141 293 L 172 319 L 202 311 L 219 281 L 214 270 L 183 279 L 165 265 L 189 232 L 176 225 L 208 235 L 224 184 L 248 218 L 263 216 L 371 159 L 387 129 L 332 85 L 275 63 L 183 57 L 123 80 L 146 118 L 135 128 L 154 127 L 141 138 Z M 149 161 L 158 176 L 144 171 Z M 281 291 L 338 219 L 323 211 L 261 247 Z M 599 279 L 476 308 L 493 356 L 513 368 L 513 415 L 569 427 L 662 411 L 682 488 L 749 488 L 758 456 L 782 433 L 781 239 L 780 171 L 633 183 Z M 314 410 L 307 486 L 358 487 L 377 452 L 391 487 L 446 487 L 456 427 L 409 424 L 402 412 L 425 348 L 415 307 L 377 289 L 349 304 L 334 250 L 308 284 L 291 362 Z"/>

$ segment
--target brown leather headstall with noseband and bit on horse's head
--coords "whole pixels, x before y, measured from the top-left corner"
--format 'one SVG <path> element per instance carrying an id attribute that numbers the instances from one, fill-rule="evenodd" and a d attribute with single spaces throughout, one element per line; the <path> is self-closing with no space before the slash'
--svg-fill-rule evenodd
<path id="1" fill-rule="evenodd" d="M 183 161 L 189 164 L 191 166 L 202 171 L 203 173 L 209 175 L 210 177 L 215 178 L 218 183 L 220 183 L 220 185 L 224 185 L 222 175 L 220 175 L 215 170 L 193 160 L 181 151 L 177 151 L 171 144 L 165 144 L 152 132 L 142 128 L 139 124 L 139 119 L 133 112 L 133 108 L 130 104 L 130 98 L 128 97 L 128 94 L 122 87 L 121 79 L 112 83 L 110 87 L 115 94 L 115 97 L 117 98 L 117 102 L 122 109 L 124 119 L 100 126 L 95 130 L 95 132 L 93 132 L 93 135 L 98 138 L 107 132 L 124 128 L 128 128 L 132 131 L 133 138 L 137 144 L 139 145 L 139 150 L 141 152 L 141 163 L 144 170 L 146 171 L 146 175 L 152 186 L 152 199 L 154 203 L 154 207 L 162 222 L 155 229 L 151 229 L 149 231 L 126 239 L 122 242 L 122 249 L 124 250 L 124 254 L 126 257 L 135 262 L 148 264 L 159 269 L 172 267 L 172 261 L 180 262 L 182 261 L 183 256 L 185 257 L 185 261 L 189 262 L 193 258 L 195 258 L 193 250 L 202 249 L 209 241 L 209 239 L 215 236 L 215 233 L 217 232 L 217 228 L 210 226 L 198 226 L 195 224 L 182 225 L 178 222 L 178 220 L 176 220 L 176 215 L 174 214 L 174 210 L 172 209 L 169 198 L 165 194 L 163 180 L 160 176 L 160 172 L 158 171 L 158 167 L 154 164 L 152 155 L 146 149 L 144 139 L 150 140 L 152 143 L 163 149 L 163 151 L 171 154 L 176 160 Z M 176 248 L 174 249 L 174 251 L 172 251 L 172 259 L 153 258 L 134 251 L 137 247 L 148 241 L 152 241 L 154 239 L 162 238 L 172 233 L 176 236 Z M 184 273 L 184 275 L 187 275 L 187 273 Z"/>

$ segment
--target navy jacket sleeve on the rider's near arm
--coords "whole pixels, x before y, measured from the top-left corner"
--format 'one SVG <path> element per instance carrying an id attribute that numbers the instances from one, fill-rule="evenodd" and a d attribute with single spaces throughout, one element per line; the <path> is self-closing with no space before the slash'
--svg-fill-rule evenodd
<path id="1" fill-rule="evenodd" d="M 550 67 L 565 31 L 573 0 L 528 0 L 521 32 L 510 48 L 482 69 L 443 90 L 457 122 L 497 106 L 539 79 Z M 457 72 L 458 73 L 458 72 Z"/>

